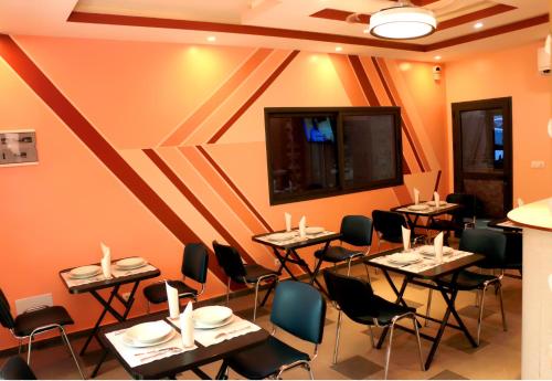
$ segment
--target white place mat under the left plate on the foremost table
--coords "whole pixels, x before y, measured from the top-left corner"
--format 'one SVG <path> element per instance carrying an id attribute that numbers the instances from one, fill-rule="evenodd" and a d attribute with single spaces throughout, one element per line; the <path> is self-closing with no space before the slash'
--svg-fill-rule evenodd
<path id="1" fill-rule="evenodd" d="M 168 322 L 164 320 L 158 321 L 162 321 L 168 325 Z M 123 334 L 125 334 L 126 330 L 127 329 L 120 329 L 109 332 L 106 335 L 106 338 L 112 342 L 115 350 L 117 350 L 117 352 L 123 357 L 123 359 L 129 364 L 130 368 L 144 366 L 148 362 L 161 360 L 167 357 L 180 354 L 182 352 L 198 348 L 197 346 L 184 348 L 182 338 L 178 331 L 177 335 L 174 335 L 174 337 L 167 342 L 153 347 L 134 348 L 125 345 L 125 342 L 123 341 Z"/>

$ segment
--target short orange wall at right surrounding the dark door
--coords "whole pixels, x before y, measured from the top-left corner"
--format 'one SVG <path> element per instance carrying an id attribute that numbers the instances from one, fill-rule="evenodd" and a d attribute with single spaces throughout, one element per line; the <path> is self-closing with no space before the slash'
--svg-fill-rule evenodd
<path id="1" fill-rule="evenodd" d="M 552 194 L 552 139 L 546 134 L 551 88 L 549 78 L 537 71 L 537 49 L 542 46 L 543 42 L 538 42 L 446 66 L 449 134 L 452 103 L 512 97 L 513 200 L 524 202 Z M 448 147 L 452 152 L 450 136 Z M 531 169 L 532 160 L 545 161 L 545 168 Z M 452 157 L 448 163 L 452 171 Z M 452 188 L 453 179 L 449 181 Z"/>

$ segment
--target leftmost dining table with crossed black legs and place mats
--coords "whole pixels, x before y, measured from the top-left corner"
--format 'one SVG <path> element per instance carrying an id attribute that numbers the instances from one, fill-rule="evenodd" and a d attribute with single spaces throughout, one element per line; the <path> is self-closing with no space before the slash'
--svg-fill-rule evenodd
<path id="1" fill-rule="evenodd" d="M 134 258 L 134 257 L 129 257 Z M 102 321 L 105 319 L 107 314 L 112 315 L 117 321 L 125 321 L 132 308 L 135 301 L 135 294 L 138 289 L 138 285 L 140 282 L 155 278 L 161 274 L 159 268 L 153 266 L 152 264 L 146 262 L 142 266 L 132 269 L 120 269 L 117 266 L 117 261 L 128 260 L 120 258 L 112 262 L 112 276 L 106 278 L 102 273 L 98 273 L 88 278 L 78 278 L 75 279 L 72 277 L 72 271 L 78 267 L 71 267 L 60 271 L 60 277 L 67 288 L 70 294 L 91 294 L 96 301 L 98 301 L 103 309 L 96 319 L 96 322 L 92 330 L 89 331 L 83 348 L 81 349 L 79 354 L 84 356 L 92 340 L 96 338 L 96 340 L 100 343 L 102 341 L 98 339 L 98 330 L 102 325 Z M 99 264 L 92 264 L 88 266 L 98 266 Z M 130 285 L 130 292 L 128 294 L 123 294 L 121 286 Z M 108 296 L 103 296 L 99 292 L 103 289 L 109 289 Z M 119 311 L 115 308 L 114 303 L 118 300 L 123 309 Z M 120 308 L 119 308 L 120 309 Z M 104 348 L 103 354 L 99 361 L 96 363 L 92 372 L 92 377 L 96 377 L 102 363 L 104 362 L 107 356 L 107 351 Z"/>

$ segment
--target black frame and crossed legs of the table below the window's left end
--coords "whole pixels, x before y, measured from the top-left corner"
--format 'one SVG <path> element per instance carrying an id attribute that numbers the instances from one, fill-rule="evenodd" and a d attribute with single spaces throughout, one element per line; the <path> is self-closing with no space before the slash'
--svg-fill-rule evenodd
<path id="1" fill-rule="evenodd" d="M 284 232 L 284 231 L 275 232 L 275 233 L 282 233 L 282 232 Z M 310 284 L 316 283 L 316 285 L 318 286 L 320 292 L 322 292 L 326 296 L 328 296 L 328 293 L 326 292 L 325 287 L 317 279 L 317 275 L 318 275 L 318 273 L 320 271 L 320 266 L 321 266 L 321 261 L 318 261 L 316 267 L 314 269 L 310 269 L 307 262 L 305 262 L 305 260 L 301 258 L 299 253 L 297 253 L 297 250 L 318 245 L 318 244 L 323 244 L 322 250 L 326 251 L 328 248 L 328 246 L 330 245 L 331 241 L 339 240 L 341 237 L 341 233 L 333 233 L 333 234 L 307 237 L 307 240 L 305 240 L 305 241 L 299 241 L 299 242 L 284 244 L 284 245 L 278 244 L 277 242 L 267 242 L 267 241 L 262 240 L 263 237 L 265 237 L 267 235 L 272 235 L 272 234 L 274 234 L 274 233 L 257 234 L 257 235 L 254 235 L 252 237 L 252 240 L 254 242 L 258 242 L 263 245 L 266 245 L 266 246 L 269 246 L 273 248 L 274 256 L 276 256 L 276 258 L 279 262 L 279 268 L 277 271 L 278 276 L 282 275 L 283 271 L 285 269 L 294 281 L 299 281 L 297 278 L 297 276 L 287 266 L 287 264 L 291 263 L 291 264 L 298 265 L 300 268 L 302 268 L 305 271 L 305 273 L 308 274 L 309 283 Z M 275 286 L 276 286 L 275 283 L 270 284 L 268 290 L 266 292 L 266 295 L 265 295 L 263 301 L 261 303 L 262 306 L 265 305 L 266 300 L 268 299 L 268 295 L 272 293 L 272 290 L 274 289 Z"/>

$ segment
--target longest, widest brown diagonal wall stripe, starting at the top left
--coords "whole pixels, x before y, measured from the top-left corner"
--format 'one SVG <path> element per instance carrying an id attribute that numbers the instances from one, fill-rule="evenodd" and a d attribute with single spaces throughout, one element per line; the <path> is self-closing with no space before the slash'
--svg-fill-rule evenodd
<path id="1" fill-rule="evenodd" d="M 180 242 L 201 242 L 9 35 L 0 34 L 0 56 Z M 212 250 L 210 254 L 214 255 Z M 209 262 L 209 268 L 220 281 L 226 282 L 215 261 Z"/>

